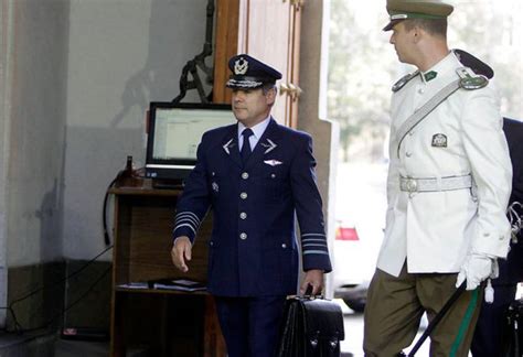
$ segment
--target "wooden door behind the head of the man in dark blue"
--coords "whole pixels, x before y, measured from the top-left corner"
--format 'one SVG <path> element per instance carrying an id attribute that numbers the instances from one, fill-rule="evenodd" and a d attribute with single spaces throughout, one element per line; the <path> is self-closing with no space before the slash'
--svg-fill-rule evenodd
<path id="1" fill-rule="evenodd" d="M 216 0 L 214 102 L 231 102 L 231 91 L 225 88 L 231 74 L 227 62 L 235 54 L 247 53 L 281 72 L 273 116 L 282 125 L 297 127 L 302 2 Z"/>

